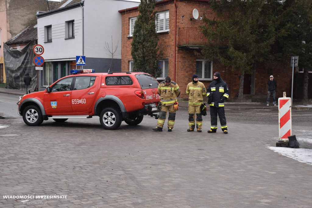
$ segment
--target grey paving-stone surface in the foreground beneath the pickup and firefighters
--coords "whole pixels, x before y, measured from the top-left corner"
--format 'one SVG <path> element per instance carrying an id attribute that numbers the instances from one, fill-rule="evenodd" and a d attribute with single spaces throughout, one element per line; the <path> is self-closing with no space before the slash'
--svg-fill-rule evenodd
<path id="1" fill-rule="evenodd" d="M 0 120 L 0 207 L 311 207 L 312 166 L 267 148 L 277 126 L 228 123 L 227 135 L 208 134 L 205 120 L 202 133 L 177 120 L 173 132 L 153 132 L 157 120 L 145 117 L 110 131 L 98 119 Z M 67 199 L 25 205 L 5 195 Z"/>

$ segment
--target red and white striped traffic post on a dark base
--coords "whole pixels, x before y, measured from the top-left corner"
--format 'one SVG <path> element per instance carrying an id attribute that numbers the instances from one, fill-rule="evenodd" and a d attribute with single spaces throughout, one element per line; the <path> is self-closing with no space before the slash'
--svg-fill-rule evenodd
<path id="1" fill-rule="evenodd" d="M 279 138 L 287 142 L 288 137 L 292 135 L 291 98 L 286 98 L 285 92 L 283 96 L 278 99 Z"/>

